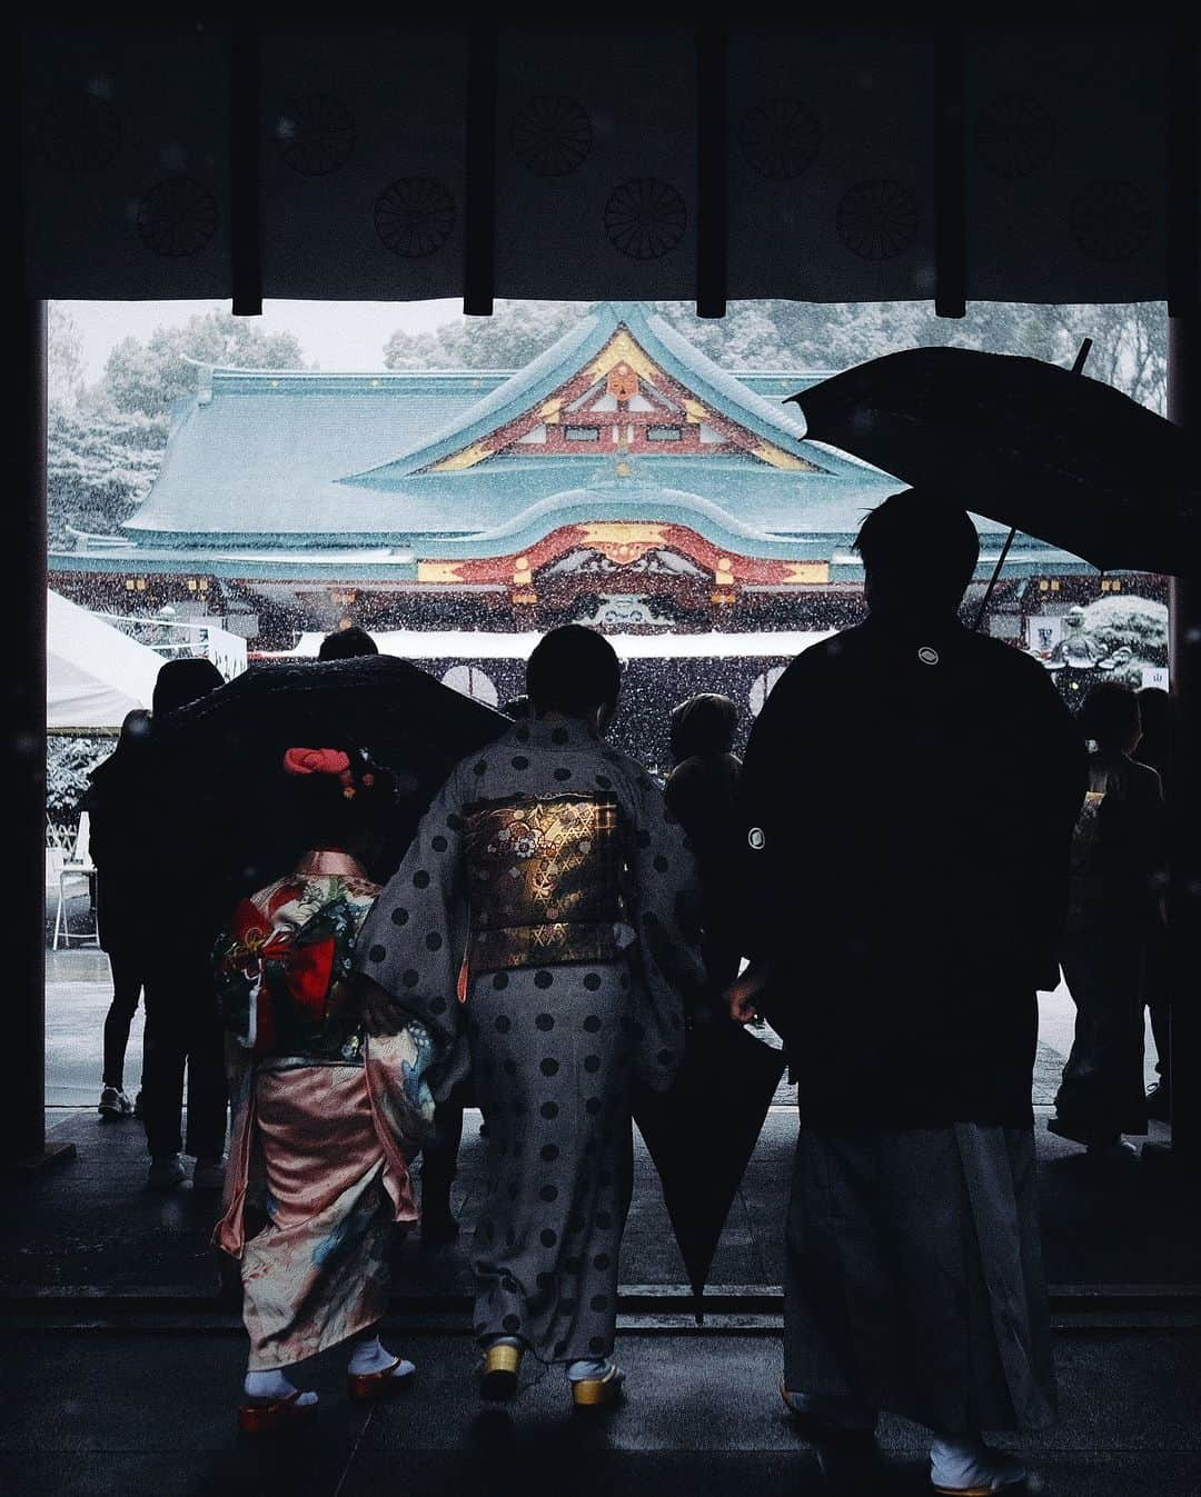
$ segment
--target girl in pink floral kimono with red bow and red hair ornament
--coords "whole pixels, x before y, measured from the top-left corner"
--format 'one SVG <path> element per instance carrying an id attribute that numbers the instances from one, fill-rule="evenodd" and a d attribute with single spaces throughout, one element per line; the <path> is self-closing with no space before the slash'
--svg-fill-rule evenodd
<path id="1" fill-rule="evenodd" d="M 391 781 L 337 748 L 289 748 L 283 769 L 310 850 L 238 906 L 214 954 L 235 1106 L 216 1241 L 241 1260 L 247 1433 L 316 1404 L 288 1370 L 340 1341 L 352 1341 L 353 1398 L 413 1373 L 376 1325 L 392 1223 L 418 1214 L 407 1157 L 433 1115 L 428 1036 L 413 1022 L 368 1040 L 347 981 L 379 894 L 361 858 L 386 823 Z"/>

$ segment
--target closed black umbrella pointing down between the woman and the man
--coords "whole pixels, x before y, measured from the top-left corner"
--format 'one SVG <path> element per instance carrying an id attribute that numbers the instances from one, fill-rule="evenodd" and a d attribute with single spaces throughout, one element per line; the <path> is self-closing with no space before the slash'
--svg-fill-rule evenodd
<path id="1" fill-rule="evenodd" d="M 663 1184 L 698 1323 L 713 1254 L 783 1067 L 783 1051 L 725 1016 L 710 1018 L 689 1031 L 672 1088 L 635 1099 L 633 1120 Z"/>

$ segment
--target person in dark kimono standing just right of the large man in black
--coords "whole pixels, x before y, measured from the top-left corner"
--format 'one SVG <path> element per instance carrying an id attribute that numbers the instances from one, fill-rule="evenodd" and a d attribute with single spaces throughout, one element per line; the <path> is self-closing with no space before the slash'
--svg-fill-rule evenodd
<path id="1" fill-rule="evenodd" d="M 1147 1132 L 1143 1007 L 1149 946 L 1164 928 L 1164 792 L 1131 757 L 1141 722 L 1129 687 L 1095 686 L 1080 726 L 1093 750 L 1062 955 L 1077 1021 L 1047 1126 L 1090 1153 L 1132 1151 L 1122 1135 Z"/>

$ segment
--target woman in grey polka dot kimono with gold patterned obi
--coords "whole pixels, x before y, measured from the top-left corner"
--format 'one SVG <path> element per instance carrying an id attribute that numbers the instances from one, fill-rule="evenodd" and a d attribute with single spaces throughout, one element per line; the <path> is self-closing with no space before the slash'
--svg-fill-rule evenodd
<path id="1" fill-rule="evenodd" d="M 521 1356 L 575 1404 L 618 1397 L 617 1254 L 633 1078 L 665 1090 L 701 994 L 692 853 L 663 795 L 602 734 L 611 645 L 569 624 L 530 656 L 530 722 L 464 759 L 364 927 L 368 1028 L 434 1034 L 434 1094 L 470 1067 L 487 1130 L 475 1235 L 482 1391 Z M 467 964 L 466 1001 L 457 979 Z"/>

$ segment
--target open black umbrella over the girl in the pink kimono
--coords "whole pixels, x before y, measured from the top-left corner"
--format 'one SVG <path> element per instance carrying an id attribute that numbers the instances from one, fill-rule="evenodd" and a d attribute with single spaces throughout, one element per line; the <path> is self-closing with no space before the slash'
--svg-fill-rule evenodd
<path id="1" fill-rule="evenodd" d="M 163 734 L 181 856 L 249 892 L 302 850 L 288 810 L 283 753 L 365 747 L 397 778 L 395 822 L 377 876 L 391 873 L 452 765 L 491 743 L 508 717 L 391 656 L 252 666 L 174 713 Z M 183 801 L 183 804 L 181 804 Z"/>

